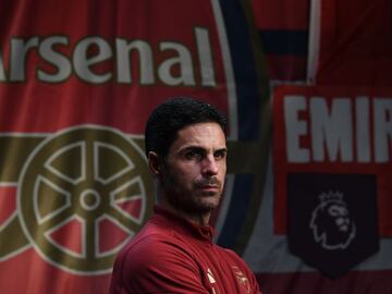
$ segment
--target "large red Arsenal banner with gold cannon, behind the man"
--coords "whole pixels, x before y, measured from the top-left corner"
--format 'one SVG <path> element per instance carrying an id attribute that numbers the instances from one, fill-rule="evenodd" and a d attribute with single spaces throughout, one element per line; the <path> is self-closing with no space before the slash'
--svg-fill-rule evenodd
<path id="1" fill-rule="evenodd" d="M 0 16 L 0 289 L 107 293 L 114 256 L 154 205 L 150 111 L 197 97 L 228 114 L 231 142 L 259 136 L 245 13 L 237 1 L 7 1 Z M 230 208 L 243 195 L 228 182 Z M 220 242 L 248 238 L 244 223 Z"/>

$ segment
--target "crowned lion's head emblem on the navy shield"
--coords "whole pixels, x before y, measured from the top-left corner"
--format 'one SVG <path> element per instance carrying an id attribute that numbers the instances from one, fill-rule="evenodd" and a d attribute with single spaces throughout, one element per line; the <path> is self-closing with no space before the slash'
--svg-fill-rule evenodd
<path id="1" fill-rule="evenodd" d="M 329 250 L 345 249 L 356 236 L 343 194 L 328 192 L 319 195 L 320 204 L 311 213 L 310 229 L 316 243 Z"/>

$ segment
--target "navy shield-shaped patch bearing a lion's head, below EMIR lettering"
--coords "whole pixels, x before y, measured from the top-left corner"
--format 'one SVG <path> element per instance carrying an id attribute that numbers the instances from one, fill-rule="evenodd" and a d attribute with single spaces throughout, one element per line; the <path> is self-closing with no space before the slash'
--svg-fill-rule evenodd
<path id="1" fill-rule="evenodd" d="M 289 247 L 335 279 L 379 250 L 376 176 L 292 173 Z"/>

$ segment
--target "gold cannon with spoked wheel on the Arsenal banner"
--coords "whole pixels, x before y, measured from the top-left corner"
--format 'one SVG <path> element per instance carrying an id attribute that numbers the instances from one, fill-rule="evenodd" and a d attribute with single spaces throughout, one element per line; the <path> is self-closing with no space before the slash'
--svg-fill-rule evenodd
<path id="1" fill-rule="evenodd" d="M 143 139 L 78 125 L 54 134 L 2 134 L 0 146 L 0 191 L 14 187 L 17 199 L 0 218 L 0 261 L 33 246 L 62 270 L 109 272 L 151 213 Z"/>

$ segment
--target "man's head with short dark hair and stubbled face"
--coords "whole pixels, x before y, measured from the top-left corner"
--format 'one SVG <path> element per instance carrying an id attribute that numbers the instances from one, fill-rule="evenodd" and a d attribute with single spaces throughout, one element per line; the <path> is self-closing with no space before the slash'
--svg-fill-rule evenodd
<path id="1" fill-rule="evenodd" d="M 161 204 L 191 219 L 209 218 L 224 185 L 224 128 L 223 114 L 189 98 L 170 100 L 152 112 L 146 154 L 160 184 Z"/>

